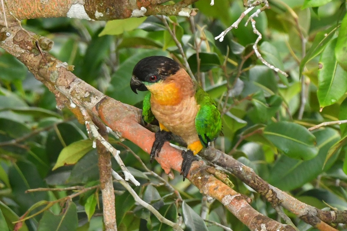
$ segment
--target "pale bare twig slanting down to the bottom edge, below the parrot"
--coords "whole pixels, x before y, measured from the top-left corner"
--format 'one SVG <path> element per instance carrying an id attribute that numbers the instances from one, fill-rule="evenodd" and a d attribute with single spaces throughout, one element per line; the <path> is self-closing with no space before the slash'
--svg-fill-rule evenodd
<path id="1" fill-rule="evenodd" d="M 183 229 L 175 222 L 172 222 L 168 219 L 166 219 L 165 217 L 163 217 L 152 205 L 148 204 L 147 202 L 143 201 L 138 195 L 137 193 L 134 191 L 134 189 L 132 187 L 130 187 L 130 185 L 119 176 L 119 174 L 112 170 L 112 176 L 124 187 L 126 188 L 126 190 L 128 190 L 128 192 L 134 197 L 135 201 L 137 203 L 139 203 L 140 205 L 142 205 L 143 207 L 145 207 L 147 210 L 149 210 L 151 213 L 153 213 L 156 218 L 158 218 L 158 220 L 162 223 L 165 223 L 167 225 L 170 225 L 174 230 L 179 230 L 179 231 L 183 231 Z"/>

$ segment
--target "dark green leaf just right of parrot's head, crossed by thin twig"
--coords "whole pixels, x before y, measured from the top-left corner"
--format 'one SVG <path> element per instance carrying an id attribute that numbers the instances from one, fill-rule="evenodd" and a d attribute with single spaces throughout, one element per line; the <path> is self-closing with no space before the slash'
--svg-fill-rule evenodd
<path id="1" fill-rule="evenodd" d="M 200 59 L 200 71 L 201 72 L 209 71 L 212 68 L 221 65 L 219 57 L 216 53 L 200 52 L 199 53 L 199 59 Z M 196 54 L 193 54 L 188 58 L 188 63 L 192 69 L 192 72 L 196 73 L 197 72 Z"/>

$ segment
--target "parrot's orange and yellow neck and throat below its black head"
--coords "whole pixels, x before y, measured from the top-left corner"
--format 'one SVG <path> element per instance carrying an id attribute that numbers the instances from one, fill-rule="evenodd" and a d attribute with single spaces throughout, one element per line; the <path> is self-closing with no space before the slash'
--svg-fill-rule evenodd
<path id="1" fill-rule="evenodd" d="M 161 83 L 149 87 L 151 100 L 161 105 L 177 105 L 187 96 L 194 96 L 194 83 L 184 69 Z"/>

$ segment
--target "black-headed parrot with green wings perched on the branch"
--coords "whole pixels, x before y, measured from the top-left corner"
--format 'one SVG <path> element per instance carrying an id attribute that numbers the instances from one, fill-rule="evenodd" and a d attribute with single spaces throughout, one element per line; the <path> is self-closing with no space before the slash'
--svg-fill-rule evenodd
<path id="1" fill-rule="evenodd" d="M 187 144 L 183 150 L 180 175 L 187 177 L 195 156 L 221 133 L 221 115 L 214 100 L 174 60 L 166 56 L 149 56 L 140 60 L 130 80 L 132 91 L 149 91 L 143 99 L 142 117 L 151 123 L 156 119 L 160 130 L 155 133 L 150 162 L 171 135 Z"/>

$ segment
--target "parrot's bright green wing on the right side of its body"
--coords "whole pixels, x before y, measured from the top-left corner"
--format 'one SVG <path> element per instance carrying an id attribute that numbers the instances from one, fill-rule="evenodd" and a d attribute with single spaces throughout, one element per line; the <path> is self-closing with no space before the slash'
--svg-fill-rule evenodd
<path id="1" fill-rule="evenodd" d="M 195 117 L 195 128 L 201 143 L 207 147 L 222 129 L 220 112 L 213 99 L 196 83 L 195 98 L 200 109 Z"/>

